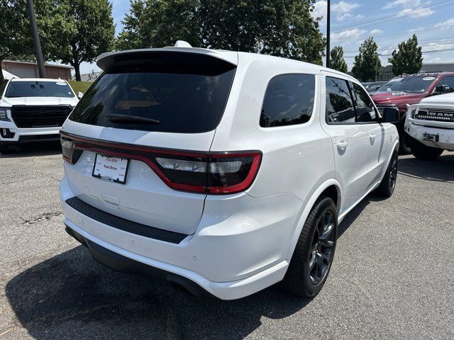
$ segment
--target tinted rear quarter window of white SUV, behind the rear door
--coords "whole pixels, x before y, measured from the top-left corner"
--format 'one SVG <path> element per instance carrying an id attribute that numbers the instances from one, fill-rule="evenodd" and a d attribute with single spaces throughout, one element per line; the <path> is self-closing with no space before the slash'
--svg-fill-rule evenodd
<path id="1" fill-rule="evenodd" d="M 306 123 L 314 108 L 314 74 L 282 74 L 270 80 L 260 114 L 260 126 Z"/>

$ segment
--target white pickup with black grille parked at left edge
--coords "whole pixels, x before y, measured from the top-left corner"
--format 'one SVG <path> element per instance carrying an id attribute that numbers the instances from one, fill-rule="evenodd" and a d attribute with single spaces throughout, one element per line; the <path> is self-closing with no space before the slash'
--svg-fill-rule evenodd
<path id="1" fill-rule="evenodd" d="M 0 98 L 0 152 L 23 143 L 60 140 L 60 127 L 79 98 L 62 79 L 11 79 Z"/>

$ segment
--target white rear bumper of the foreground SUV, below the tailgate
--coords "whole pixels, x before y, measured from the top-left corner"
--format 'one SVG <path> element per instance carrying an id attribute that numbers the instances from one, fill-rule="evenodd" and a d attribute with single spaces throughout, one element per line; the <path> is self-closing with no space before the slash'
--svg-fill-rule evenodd
<path id="1" fill-rule="evenodd" d="M 242 193 L 214 197 L 213 202 L 207 198 L 196 232 L 172 243 L 106 225 L 74 209 L 66 202 L 74 197 L 66 177 L 60 197 L 65 225 L 81 235 L 76 238 L 89 246 L 97 261 L 147 276 L 157 269 L 189 291 L 197 291 L 194 284 L 222 300 L 245 297 L 284 278 L 290 240 L 304 208 L 291 194 L 252 198 Z M 96 245 L 108 251 L 101 256 Z"/>

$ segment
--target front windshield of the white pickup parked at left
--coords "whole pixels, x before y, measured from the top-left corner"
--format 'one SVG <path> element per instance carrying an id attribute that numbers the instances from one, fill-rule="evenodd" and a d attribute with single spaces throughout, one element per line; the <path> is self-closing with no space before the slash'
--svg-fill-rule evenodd
<path id="1" fill-rule="evenodd" d="M 10 81 L 5 96 L 72 98 L 74 93 L 66 81 Z"/>

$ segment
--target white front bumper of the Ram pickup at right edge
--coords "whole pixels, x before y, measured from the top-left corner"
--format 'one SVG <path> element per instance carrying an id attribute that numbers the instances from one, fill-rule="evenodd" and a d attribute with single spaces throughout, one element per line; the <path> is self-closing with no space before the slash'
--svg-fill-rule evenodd
<path id="1" fill-rule="evenodd" d="M 430 121 L 427 121 L 426 123 L 431 124 Z M 452 124 L 453 129 L 419 125 L 415 124 L 413 119 L 408 118 L 405 123 L 405 132 L 410 137 L 413 137 L 415 140 L 428 147 L 454 151 L 454 123 L 448 124 Z M 438 142 L 425 140 L 423 137 L 424 134 L 438 135 Z"/>

